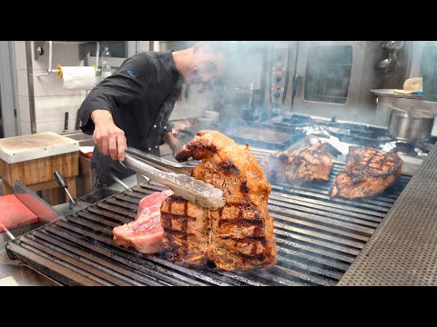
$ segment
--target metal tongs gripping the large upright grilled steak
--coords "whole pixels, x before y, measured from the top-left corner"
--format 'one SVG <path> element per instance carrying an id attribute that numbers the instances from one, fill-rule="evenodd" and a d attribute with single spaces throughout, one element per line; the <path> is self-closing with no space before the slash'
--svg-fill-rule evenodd
<path id="1" fill-rule="evenodd" d="M 131 147 L 127 147 L 125 161 L 120 163 L 125 168 L 168 186 L 176 195 L 190 202 L 211 209 L 225 205 L 221 190 L 190 176 L 194 169 L 192 165 L 173 163 Z"/>

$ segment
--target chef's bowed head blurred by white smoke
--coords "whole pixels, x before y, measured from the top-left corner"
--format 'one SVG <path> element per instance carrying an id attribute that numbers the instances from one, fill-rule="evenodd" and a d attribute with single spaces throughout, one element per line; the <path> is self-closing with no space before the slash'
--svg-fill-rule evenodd
<path id="1" fill-rule="evenodd" d="M 185 84 L 210 84 L 226 74 L 230 50 L 227 43 L 198 42 L 188 50 L 181 71 Z"/>

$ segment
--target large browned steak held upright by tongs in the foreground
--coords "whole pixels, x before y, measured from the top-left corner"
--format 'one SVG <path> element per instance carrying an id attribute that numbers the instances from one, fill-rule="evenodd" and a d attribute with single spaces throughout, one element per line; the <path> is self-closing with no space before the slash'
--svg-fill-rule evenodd
<path id="1" fill-rule="evenodd" d="M 174 261 L 215 263 L 227 271 L 273 266 L 276 243 L 267 206 L 271 187 L 249 146 L 217 131 L 199 131 L 176 159 L 202 160 L 193 177 L 222 190 L 226 204 L 212 210 L 178 196 L 162 203 L 163 243 Z"/>

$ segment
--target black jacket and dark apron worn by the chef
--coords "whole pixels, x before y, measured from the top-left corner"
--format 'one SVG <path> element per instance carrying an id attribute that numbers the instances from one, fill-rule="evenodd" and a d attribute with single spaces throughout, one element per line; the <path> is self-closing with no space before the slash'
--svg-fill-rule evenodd
<path id="1" fill-rule="evenodd" d="M 127 138 L 127 146 L 159 155 L 159 145 L 171 132 L 168 118 L 183 84 L 171 51 L 134 54 L 110 76 L 94 87 L 79 109 L 80 128 L 93 134 L 95 125 L 90 114 L 96 109 L 109 111 L 117 127 Z M 108 173 L 123 179 L 134 173 L 110 155 L 94 148 L 91 166 L 104 184 L 115 181 Z"/>

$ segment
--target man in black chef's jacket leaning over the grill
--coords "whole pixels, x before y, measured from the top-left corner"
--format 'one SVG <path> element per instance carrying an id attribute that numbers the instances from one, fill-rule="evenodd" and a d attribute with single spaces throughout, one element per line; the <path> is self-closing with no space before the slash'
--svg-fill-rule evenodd
<path id="1" fill-rule="evenodd" d="M 159 155 L 167 143 L 176 152 L 181 144 L 168 124 L 182 84 L 211 84 L 225 73 L 228 47 L 223 42 L 198 42 L 184 50 L 132 55 L 94 87 L 79 109 L 80 128 L 93 134 L 91 166 L 96 187 L 133 174 L 119 161 L 131 146 Z"/>

